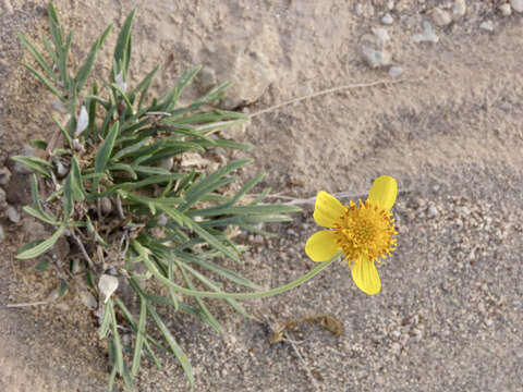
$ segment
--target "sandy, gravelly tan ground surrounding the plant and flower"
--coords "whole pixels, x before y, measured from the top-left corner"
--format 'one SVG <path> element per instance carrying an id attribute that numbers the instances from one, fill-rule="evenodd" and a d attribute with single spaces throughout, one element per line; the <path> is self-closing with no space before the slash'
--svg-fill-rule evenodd
<path id="1" fill-rule="evenodd" d="M 193 64 L 221 77 L 220 66 L 241 59 L 247 66 L 234 94 L 258 93 L 244 99 L 254 100 L 243 109 L 250 113 L 336 86 L 398 82 L 287 106 L 232 133 L 256 146 L 253 173 L 267 172 L 266 185 L 293 198 L 319 189 L 363 196 L 376 176 L 396 176 L 399 247 L 379 267 L 377 296 L 358 292 L 346 267 L 335 264 L 285 295 L 246 303 L 258 321 L 212 303 L 226 336 L 172 315 L 196 391 L 523 391 L 523 19 L 514 10 L 503 15 L 504 1 L 469 0 L 463 16 L 438 27 L 430 10 L 440 3 L 57 1 L 78 59 L 107 24 L 121 26 L 137 8 L 133 77 L 162 64 L 158 90 Z M 19 30 L 33 38 L 46 32 L 45 5 L 0 4 L 0 167 L 12 169 L 10 155 L 49 135 L 49 96 L 17 64 L 24 53 L 15 39 Z M 443 5 L 452 15 L 453 1 Z M 437 42 L 413 39 L 423 21 Z M 381 54 L 401 76 L 363 61 L 362 37 L 373 27 L 387 29 Z M 3 186 L 19 210 L 24 184 L 13 171 Z M 273 228 L 277 240 L 250 238 L 242 273 L 268 287 L 313 267 L 303 247 L 316 226 L 304 207 L 293 224 Z M 105 343 L 74 290 L 53 306 L 4 307 L 46 298 L 58 272 L 42 275 L 14 259 L 31 224 L 10 222 L 4 210 L 0 224 L 0 390 L 104 391 Z M 301 323 L 289 332 L 292 343 L 269 344 L 271 328 L 307 315 L 336 317 L 344 332 L 336 338 Z M 186 391 L 175 360 L 161 359 L 161 370 L 144 367 L 139 391 Z"/>

